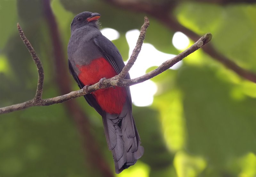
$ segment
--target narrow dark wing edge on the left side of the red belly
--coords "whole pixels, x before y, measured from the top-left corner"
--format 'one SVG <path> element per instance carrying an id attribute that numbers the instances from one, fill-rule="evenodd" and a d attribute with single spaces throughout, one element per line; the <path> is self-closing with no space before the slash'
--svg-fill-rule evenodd
<path id="1" fill-rule="evenodd" d="M 70 74 L 72 74 L 72 76 L 74 77 L 78 87 L 80 89 L 84 88 L 84 84 L 78 79 L 69 60 L 68 60 L 68 69 L 69 69 Z M 92 96 L 92 94 L 86 94 L 86 95 L 84 95 L 84 98 L 90 106 L 92 106 L 100 115 L 102 115 L 102 109 L 100 108 L 100 105 L 97 103 L 97 101 Z"/>

